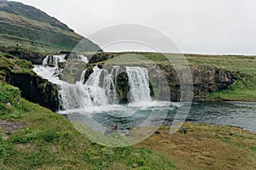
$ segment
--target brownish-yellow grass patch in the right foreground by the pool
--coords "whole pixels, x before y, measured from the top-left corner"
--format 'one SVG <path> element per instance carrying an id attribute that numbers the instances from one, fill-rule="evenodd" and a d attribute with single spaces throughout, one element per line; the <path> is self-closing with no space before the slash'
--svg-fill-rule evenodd
<path id="1" fill-rule="evenodd" d="M 184 123 L 186 134 L 160 127 L 138 147 L 147 147 L 180 169 L 255 169 L 256 134 L 238 127 Z"/>

